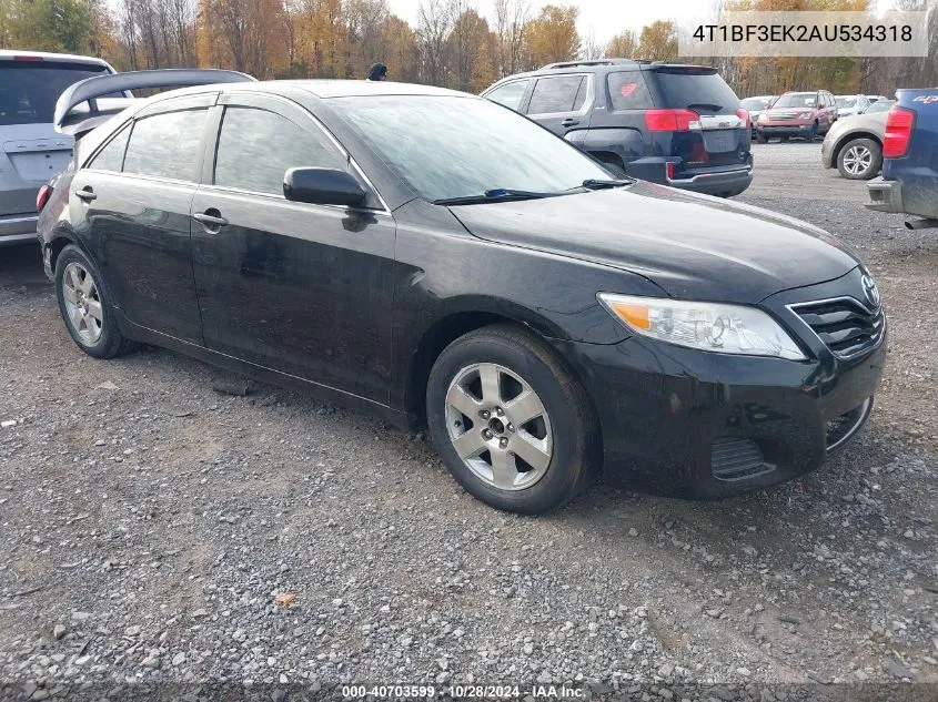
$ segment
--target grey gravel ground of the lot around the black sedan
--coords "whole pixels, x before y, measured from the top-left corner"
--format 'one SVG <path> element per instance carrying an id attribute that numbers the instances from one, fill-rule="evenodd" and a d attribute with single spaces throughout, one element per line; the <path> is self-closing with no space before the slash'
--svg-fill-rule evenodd
<path id="1" fill-rule="evenodd" d="M 936 699 L 938 231 L 866 212 L 819 149 L 755 146 L 740 200 L 866 257 L 891 323 L 877 410 L 821 471 L 715 503 L 598 487 L 546 517 L 494 511 L 422 436 L 280 388 L 224 395 L 231 377 L 160 349 L 85 357 L 37 252 L 0 250 L 0 420 L 17 423 L 0 699 L 395 681 Z"/>

